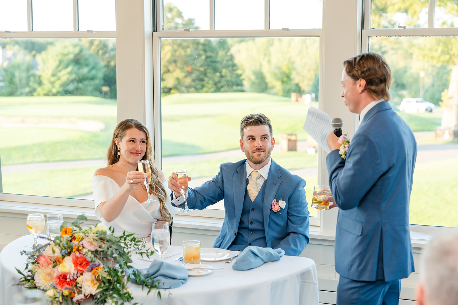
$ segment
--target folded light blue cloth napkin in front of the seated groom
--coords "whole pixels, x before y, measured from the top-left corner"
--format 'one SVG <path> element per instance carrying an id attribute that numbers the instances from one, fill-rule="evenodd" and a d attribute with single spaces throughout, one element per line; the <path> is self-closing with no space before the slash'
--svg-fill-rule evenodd
<path id="1" fill-rule="evenodd" d="M 279 261 L 284 256 L 285 251 L 281 248 L 263 248 L 258 246 L 247 246 L 239 254 L 237 260 L 232 265 L 232 269 L 246 271 L 261 266 L 265 262 Z"/>

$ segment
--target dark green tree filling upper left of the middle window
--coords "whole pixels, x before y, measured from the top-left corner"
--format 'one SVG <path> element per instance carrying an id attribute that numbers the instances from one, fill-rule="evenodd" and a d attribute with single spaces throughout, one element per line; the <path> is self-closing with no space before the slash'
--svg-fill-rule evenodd
<path id="1" fill-rule="evenodd" d="M 180 10 L 164 5 L 170 29 L 196 28 Z M 242 91 L 241 75 L 226 39 L 161 39 L 161 90 L 178 92 Z"/>

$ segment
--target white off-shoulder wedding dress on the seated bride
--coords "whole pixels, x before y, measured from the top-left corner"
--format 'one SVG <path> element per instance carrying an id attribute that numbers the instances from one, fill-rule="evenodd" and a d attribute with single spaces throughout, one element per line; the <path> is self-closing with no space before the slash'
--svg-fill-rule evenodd
<path id="1" fill-rule="evenodd" d="M 167 180 L 162 182 L 162 185 L 165 188 L 166 194 L 170 194 L 171 191 L 167 185 Z M 139 203 L 135 198 L 129 196 L 121 214 L 113 221 L 107 222 L 100 214 L 98 205 L 112 198 L 120 190 L 120 186 L 110 177 L 99 175 L 92 178 L 92 188 L 95 215 L 107 229 L 110 226 L 113 227 L 114 235 L 116 236 L 121 235 L 125 231 L 126 234 L 135 233 L 135 237 L 137 238 L 147 237 L 151 233 L 153 222 L 157 221 L 157 219 L 162 219 L 159 212 L 158 198 L 152 194 L 151 198 L 155 199 L 155 201 L 146 204 Z M 180 211 L 180 209 L 172 206 L 169 196 L 167 196 L 165 206 L 169 209 L 172 216 Z M 151 237 L 148 237 L 146 240 L 151 241 Z"/>

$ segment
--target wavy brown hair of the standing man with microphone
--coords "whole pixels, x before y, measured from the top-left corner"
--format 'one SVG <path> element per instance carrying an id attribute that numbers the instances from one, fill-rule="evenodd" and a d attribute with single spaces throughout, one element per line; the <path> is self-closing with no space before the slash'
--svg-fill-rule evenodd
<path id="1" fill-rule="evenodd" d="M 389 101 L 391 69 L 385 59 L 376 53 L 362 53 L 344 61 L 345 73 L 352 80 L 366 81 L 365 90 L 376 100 Z"/>

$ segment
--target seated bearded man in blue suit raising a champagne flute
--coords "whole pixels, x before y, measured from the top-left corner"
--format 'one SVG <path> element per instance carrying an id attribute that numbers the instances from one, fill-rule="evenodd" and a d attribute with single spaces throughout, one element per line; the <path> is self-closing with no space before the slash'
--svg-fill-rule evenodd
<path id="1" fill-rule="evenodd" d="M 188 188 L 190 209 L 224 199 L 224 222 L 213 247 L 242 251 L 246 246 L 282 248 L 299 256 L 309 242 L 305 181 L 275 163 L 270 120 L 250 114 L 240 122 L 240 148 L 246 159 L 223 163 L 202 186 Z M 169 177 L 174 205 L 184 202 L 175 173 Z"/>

